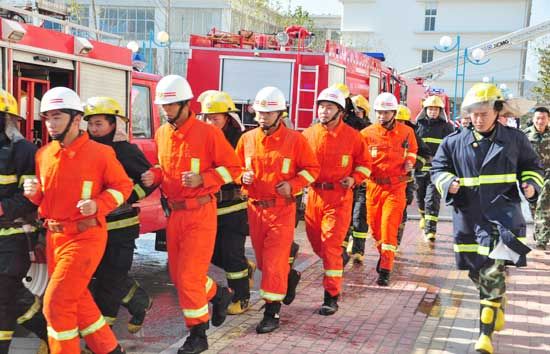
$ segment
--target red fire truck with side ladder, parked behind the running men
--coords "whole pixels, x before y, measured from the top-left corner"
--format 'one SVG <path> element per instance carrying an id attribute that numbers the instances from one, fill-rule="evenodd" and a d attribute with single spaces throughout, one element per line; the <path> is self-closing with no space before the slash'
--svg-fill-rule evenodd
<path id="1" fill-rule="evenodd" d="M 289 116 L 296 129 L 308 127 L 316 115 L 315 99 L 324 88 L 346 83 L 352 94 L 370 102 L 380 92 L 392 92 L 407 104 L 421 102 L 424 91 L 380 60 L 327 41 L 322 52 L 308 48 L 309 32 L 297 26 L 277 35 L 240 34 L 212 29 L 208 35 L 191 35 L 187 79 L 197 93 L 216 89 L 228 92 L 252 123 L 248 106 L 264 86 L 280 88 L 289 99 Z M 195 110 L 200 109 L 198 104 Z M 371 120 L 374 111 L 371 111 Z"/>

